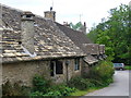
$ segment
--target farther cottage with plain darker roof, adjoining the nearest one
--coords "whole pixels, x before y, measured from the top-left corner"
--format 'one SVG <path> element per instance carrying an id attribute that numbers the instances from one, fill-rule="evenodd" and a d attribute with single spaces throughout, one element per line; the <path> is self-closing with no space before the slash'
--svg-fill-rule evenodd
<path id="1" fill-rule="evenodd" d="M 99 60 L 103 60 L 105 54 L 105 46 L 93 44 L 85 35 L 85 27 L 84 30 L 74 30 L 70 28 L 68 24 L 59 24 L 56 22 L 56 12 L 55 11 L 47 11 L 45 12 L 45 17 L 50 19 L 56 23 L 56 25 L 83 52 L 86 54 L 83 59 L 82 72 L 88 73 L 90 66 L 97 64 Z M 102 57 L 102 58 L 100 58 Z"/>

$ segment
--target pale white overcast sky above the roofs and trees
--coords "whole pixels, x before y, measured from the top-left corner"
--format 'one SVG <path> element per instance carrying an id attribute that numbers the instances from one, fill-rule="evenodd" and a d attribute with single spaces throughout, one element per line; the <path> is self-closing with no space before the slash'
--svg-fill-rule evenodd
<path id="1" fill-rule="evenodd" d="M 100 23 L 103 17 L 109 16 L 110 9 L 129 2 L 130 0 L 0 0 L 2 4 L 32 11 L 40 16 L 52 7 L 58 23 L 86 22 L 87 29 Z"/>

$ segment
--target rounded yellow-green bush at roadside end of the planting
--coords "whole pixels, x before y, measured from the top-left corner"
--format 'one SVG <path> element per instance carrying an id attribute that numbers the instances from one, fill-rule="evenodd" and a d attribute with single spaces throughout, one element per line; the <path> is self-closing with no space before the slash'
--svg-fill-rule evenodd
<path id="1" fill-rule="evenodd" d="M 87 77 L 96 79 L 97 82 L 103 83 L 103 85 L 108 85 L 112 82 L 114 73 L 115 70 L 112 63 L 109 61 L 102 61 L 98 65 L 91 69 Z"/>

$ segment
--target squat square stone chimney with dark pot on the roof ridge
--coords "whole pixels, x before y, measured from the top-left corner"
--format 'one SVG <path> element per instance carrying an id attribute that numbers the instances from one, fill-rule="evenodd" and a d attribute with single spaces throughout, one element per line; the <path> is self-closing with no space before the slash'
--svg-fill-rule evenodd
<path id="1" fill-rule="evenodd" d="M 44 13 L 45 13 L 46 19 L 49 19 L 49 20 L 56 22 L 56 12 L 52 11 L 52 8 L 50 8 L 50 11 L 46 11 Z"/>

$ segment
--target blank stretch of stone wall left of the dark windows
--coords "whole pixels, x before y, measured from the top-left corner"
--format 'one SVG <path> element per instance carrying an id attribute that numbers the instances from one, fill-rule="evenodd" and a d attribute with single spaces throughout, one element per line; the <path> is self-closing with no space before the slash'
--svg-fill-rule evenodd
<path id="1" fill-rule="evenodd" d="M 10 63 L 3 64 L 2 69 L 3 83 L 10 81 L 11 83 L 19 82 L 22 85 L 31 86 L 35 74 L 44 74 L 49 76 L 48 61 Z"/>

